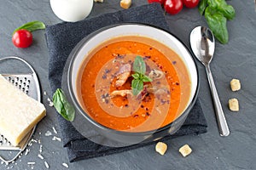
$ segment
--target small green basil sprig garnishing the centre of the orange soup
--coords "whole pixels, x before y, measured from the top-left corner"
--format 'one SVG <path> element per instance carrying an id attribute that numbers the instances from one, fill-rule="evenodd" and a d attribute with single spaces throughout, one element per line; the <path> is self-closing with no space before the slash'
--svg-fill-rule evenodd
<path id="1" fill-rule="evenodd" d="M 137 56 L 133 63 L 134 74 L 131 75 L 133 80 L 131 81 L 132 94 L 137 95 L 143 90 L 144 82 L 152 82 L 152 79 L 145 75 L 146 64 L 142 57 Z"/>

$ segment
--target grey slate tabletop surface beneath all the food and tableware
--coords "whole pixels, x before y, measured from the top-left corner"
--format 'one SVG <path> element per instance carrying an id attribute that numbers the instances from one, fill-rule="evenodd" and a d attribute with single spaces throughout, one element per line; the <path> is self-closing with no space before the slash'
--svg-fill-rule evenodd
<path id="1" fill-rule="evenodd" d="M 146 0 L 133 0 L 133 6 L 145 3 Z M 253 0 L 232 0 L 228 3 L 236 8 L 235 20 L 228 22 L 230 42 L 225 45 L 216 43 L 211 67 L 230 126 L 229 137 L 223 138 L 218 134 L 206 72 L 197 62 L 201 77 L 199 97 L 207 117 L 208 132 L 200 136 L 169 140 L 165 156 L 157 154 L 154 145 L 150 145 L 111 156 L 68 163 L 67 151 L 62 148 L 61 142 L 44 135 L 51 131 L 56 137 L 60 137 L 60 133 L 55 134 L 52 129 L 55 127 L 59 130 L 55 111 L 48 106 L 48 97 L 43 95 L 48 116 L 38 124 L 33 136 L 40 144 L 33 142 L 28 147 L 30 151 L 27 155 L 24 153 L 9 165 L 0 164 L 0 169 L 46 169 L 44 161 L 48 162 L 49 169 L 65 169 L 62 163 L 67 163 L 69 169 L 256 169 L 256 13 Z M 105 0 L 104 3 L 94 4 L 90 17 L 119 9 L 119 1 Z M 15 48 L 11 42 L 11 34 L 17 26 L 31 20 L 42 20 L 46 25 L 53 25 L 61 20 L 51 11 L 48 0 L 0 0 L 0 11 L 0 57 L 15 55 L 26 59 L 38 72 L 42 92 L 50 94 L 47 72 L 49 56 L 44 31 L 35 31 L 34 43 L 26 49 Z M 196 8 L 183 8 L 182 13 L 174 16 L 166 14 L 166 20 L 172 33 L 186 44 L 189 44 L 189 32 L 195 26 L 207 26 Z M 236 93 L 230 90 L 232 78 L 241 80 L 241 90 Z M 227 105 L 230 98 L 239 99 L 239 112 L 229 111 Z M 178 148 L 183 144 L 189 144 L 193 150 L 185 158 L 178 153 Z M 40 147 L 43 149 L 42 153 Z M 44 156 L 44 160 L 38 154 Z M 27 164 L 32 161 L 36 163 Z"/>

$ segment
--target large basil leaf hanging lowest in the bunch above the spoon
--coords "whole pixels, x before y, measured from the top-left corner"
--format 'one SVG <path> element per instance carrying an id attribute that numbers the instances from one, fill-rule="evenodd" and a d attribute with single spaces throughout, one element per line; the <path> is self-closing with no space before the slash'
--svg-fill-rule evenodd
<path id="1" fill-rule="evenodd" d="M 205 17 L 208 26 L 218 41 L 221 43 L 227 43 L 229 41 L 229 33 L 226 26 L 227 19 L 224 15 L 207 7 Z"/>

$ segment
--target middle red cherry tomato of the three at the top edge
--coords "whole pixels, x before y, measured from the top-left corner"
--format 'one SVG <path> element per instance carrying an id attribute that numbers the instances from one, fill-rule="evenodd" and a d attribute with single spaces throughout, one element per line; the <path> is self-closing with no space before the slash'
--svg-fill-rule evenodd
<path id="1" fill-rule="evenodd" d="M 169 14 L 177 14 L 183 9 L 182 0 L 166 0 L 164 8 Z"/>

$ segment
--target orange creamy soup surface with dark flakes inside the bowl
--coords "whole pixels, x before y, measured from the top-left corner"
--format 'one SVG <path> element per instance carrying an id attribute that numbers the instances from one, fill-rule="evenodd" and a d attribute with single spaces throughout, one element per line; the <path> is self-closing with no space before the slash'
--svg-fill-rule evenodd
<path id="1" fill-rule="evenodd" d="M 140 56 L 151 82 L 133 94 L 134 61 Z M 77 78 L 84 111 L 103 126 L 143 132 L 173 122 L 187 107 L 190 77 L 183 60 L 148 37 L 116 37 L 85 57 Z"/>

